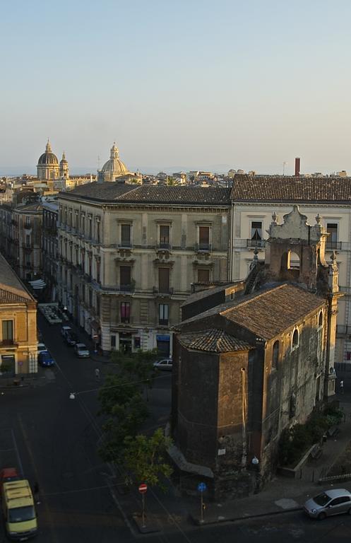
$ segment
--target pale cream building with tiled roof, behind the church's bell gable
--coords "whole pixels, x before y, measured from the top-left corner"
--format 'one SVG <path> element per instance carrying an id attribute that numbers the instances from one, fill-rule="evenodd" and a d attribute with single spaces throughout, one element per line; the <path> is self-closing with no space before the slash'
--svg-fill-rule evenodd
<path id="1" fill-rule="evenodd" d="M 265 259 L 272 217 L 281 220 L 297 204 L 307 223 L 321 223 L 328 232 L 326 259 L 336 251 L 340 291 L 335 365 L 351 368 L 351 177 L 288 177 L 236 175 L 230 212 L 229 279 L 244 279 L 254 250 Z M 301 264 L 290 255 L 292 267 Z"/>

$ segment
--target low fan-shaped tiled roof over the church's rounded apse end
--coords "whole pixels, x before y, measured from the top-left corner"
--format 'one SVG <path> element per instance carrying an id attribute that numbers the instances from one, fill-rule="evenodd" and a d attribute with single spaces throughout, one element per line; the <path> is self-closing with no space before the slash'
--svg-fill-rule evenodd
<path id="1" fill-rule="evenodd" d="M 247 349 L 252 349 L 252 346 L 246 343 L 246 341 L 237 339 L 227 334 L 224 330 L 219 329 L 180 334 L 178 339 L 186 349 L 194 349 L 195 351 L 226 353 L 229 351 L 246 351 Z"/>

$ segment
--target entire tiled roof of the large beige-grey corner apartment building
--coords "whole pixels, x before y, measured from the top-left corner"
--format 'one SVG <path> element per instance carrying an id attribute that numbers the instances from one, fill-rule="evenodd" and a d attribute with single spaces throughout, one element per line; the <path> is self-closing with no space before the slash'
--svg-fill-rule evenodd
<path id="1" fill-rule="evenodd" d="M 118 182 L 86 183 L 60 198 L 81 197 L 107 202 L 143 204 L 219 204 L 230 205 L 230 190 L 222 187 L 165 187 L 162 185 L 124 185 Z"/>

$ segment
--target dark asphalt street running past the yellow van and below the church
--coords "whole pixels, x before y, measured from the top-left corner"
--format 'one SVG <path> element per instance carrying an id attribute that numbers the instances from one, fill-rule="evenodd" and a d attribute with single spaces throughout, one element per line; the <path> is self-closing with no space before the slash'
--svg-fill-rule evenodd
<path id="1" fill-rule="evenodd" d="M 16 465 L 34 484 L 40 485 L 37 506 L 43 543 L 290 543 L 349 542 L 351 517 L 343 515 L 316 522 L 303 513 L 285 513 L 269 518 L 223 525 L 191 526 L 165 508 L 165 527 L 155 535 L 139 535 L 124 522 L 122 501 L 109 467 L 97 455 L 101 438 L 95 368 L 101 378 L 112 368 L 91 359 L 78 359 L 59 334 L 59 326 L 40 321 L 44 342 L 56 359 L 49 384 L 13 388 L 0 396 L 0 465 Z M 155 382 L 150 395 L 148 427 L 167 420 L 170 405 L 170 375 Z M 40 381 L 40 380 L 39 380 Z M 69 392 L 78 392 L 69 399 Z M 181 500 L 182 498 L 179 498 Z M 138 503 L 136 503 L 136 509 Z M 0 542 L 6 541 L 1 523 Z"/>

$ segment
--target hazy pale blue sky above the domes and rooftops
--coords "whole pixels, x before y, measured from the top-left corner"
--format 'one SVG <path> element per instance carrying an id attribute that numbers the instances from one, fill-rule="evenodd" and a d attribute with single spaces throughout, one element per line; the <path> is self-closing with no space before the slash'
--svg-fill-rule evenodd
<path id="1" fill-rule="evenodd" d="M 350 0 L 0 2 L 0 175 L 49 137 L 71 170 L 351 173 Z M 23 170 L 24 171 L 24 170 Z"/>

